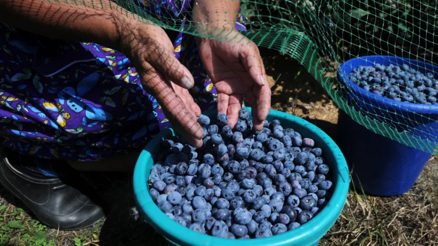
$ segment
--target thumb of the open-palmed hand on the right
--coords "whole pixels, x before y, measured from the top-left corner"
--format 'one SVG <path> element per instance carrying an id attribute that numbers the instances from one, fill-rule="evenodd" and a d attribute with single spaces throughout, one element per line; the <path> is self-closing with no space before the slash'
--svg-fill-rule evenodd
<path id="1" fill-rule="evenodd" d="M 260 56 L 260 52 L 254 43 L 242 46 L 240 49 L 240 59 L 245 67 L 246 71 L 250 73 L 251 78 L 256 85 L 264 86 L 268 78 L 264 70 L 263 61 Z"/>

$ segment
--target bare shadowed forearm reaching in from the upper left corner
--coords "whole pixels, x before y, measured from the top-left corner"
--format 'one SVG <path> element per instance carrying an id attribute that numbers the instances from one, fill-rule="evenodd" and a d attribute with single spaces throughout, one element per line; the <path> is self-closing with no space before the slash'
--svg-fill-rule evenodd
<path id="1" fill-rule="evenodd" d="M 89 0 L 82 3 L 90 4 Z M 0 21 L 50 38 L 94 42 L 117 49 L 127 18 L 111 10 L 110 5 L 116 8 L 116 4 L 106 0 L 94 8 L 39 0 L 0 0 Z"/>

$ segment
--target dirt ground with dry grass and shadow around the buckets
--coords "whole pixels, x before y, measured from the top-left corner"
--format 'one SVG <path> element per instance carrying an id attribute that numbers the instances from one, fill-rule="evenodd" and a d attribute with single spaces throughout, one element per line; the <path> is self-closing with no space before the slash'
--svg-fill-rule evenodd
<path id="1" fill-rule="evenodd" d="M 295 61 L 262 54 L 273 85 L 272 108 L 307 119 L 335 138 L 338 109 L 321 86 Z M 134 206 L 130 175 L 84 178 L 102 191 L 106 219 L 87 230 L 47 229 L 0 187 L 0 245 L 166 245 L 153 228 L 129 216 Z M 351 189 L 344 211 L 320 245 L 436 245 L 437 187 L 438 157 L 432 156 L 404 195 L 374 197 Z"/>

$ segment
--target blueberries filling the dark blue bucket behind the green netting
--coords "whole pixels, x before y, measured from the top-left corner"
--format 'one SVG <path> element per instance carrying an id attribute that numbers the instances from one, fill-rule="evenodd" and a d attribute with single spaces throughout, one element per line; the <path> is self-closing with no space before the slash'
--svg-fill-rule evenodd
<path id="1" fill-rule="evenodd" d="M 407 64 L 359 66 L 349 74 L 349 79 L 360 88 L 397 101 L 438 104 L 435 97 L 438 80 L 432 73 L 424 75 Z"/>

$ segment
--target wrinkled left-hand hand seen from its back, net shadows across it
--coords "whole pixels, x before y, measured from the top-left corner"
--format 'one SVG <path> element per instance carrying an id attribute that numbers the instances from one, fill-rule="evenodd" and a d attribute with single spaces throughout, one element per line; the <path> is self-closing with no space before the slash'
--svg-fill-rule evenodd
<path id="1" fill-rule="evenodd" d="M 187 89 L 194 79 L 173 53 L 173 45 L 158 26 L 130 22 L 121 31 L 120 49 L 140 75 L 143 88 L 161 104 L 170 124 L 193 146 L 202 146 L 201 115 Z"/>

